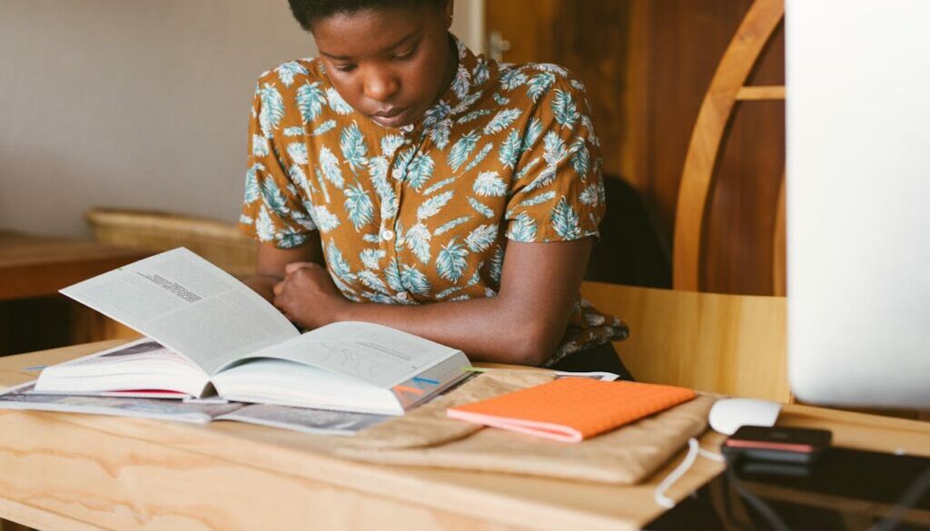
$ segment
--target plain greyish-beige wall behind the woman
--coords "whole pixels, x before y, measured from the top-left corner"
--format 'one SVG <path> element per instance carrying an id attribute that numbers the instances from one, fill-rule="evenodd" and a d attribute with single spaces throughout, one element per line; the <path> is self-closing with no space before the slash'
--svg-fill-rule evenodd
<path id="1" fill-rule="evenodd" d="M 470 46 L 482 7 L 456 8 Z M 84 236 L 89 206 L 233 221 L 255 80 L 314 53 L 285 0 L 0 0 L 0 228 Z"/>

